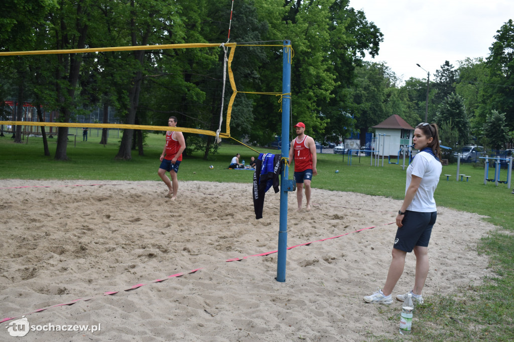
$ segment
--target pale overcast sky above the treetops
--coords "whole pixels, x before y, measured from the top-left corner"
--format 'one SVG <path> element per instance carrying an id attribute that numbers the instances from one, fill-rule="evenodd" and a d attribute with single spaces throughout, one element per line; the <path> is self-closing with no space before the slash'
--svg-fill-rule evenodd
<path id="1" fill-rule="evenodd" d="M 514 0 L 350 0 L 380 29 L 383 42 L 375 59 L 386 62 L 403 81 L 426 79 L 449 61 L 489 54 L 502 25 L 514 19 Z"/>

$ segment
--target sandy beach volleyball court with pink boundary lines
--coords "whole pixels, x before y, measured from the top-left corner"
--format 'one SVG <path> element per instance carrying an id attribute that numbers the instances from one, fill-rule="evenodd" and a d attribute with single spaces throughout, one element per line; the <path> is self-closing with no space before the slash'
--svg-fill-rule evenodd
<path id="1" fill-rule="evenodd" d="M 181 182 L 176 202 L 164 198 L 167 188 L 157 181 L 0 180 L 0 187 L 0 319 L 101 325 L 94 333 L 30 331 L 20 340 L 397 335 L 398 322 L 384 319 L 362 296 L 385 281 L 396 229 L 389 223 L 400 201 L 313 189 L 313 210 L 296 212 L 290 194 L 288 246 L 351 234 L 289 250 L 281 283 L 274 280 L 277 254 L 226 262 L 277 250 L 279 194 L 272 191 L 264 218 L 255 220 L 251 184 Z M 492 228 L 479 215 L 439 207 L 424 296 L 448 294 L 490 274 L 476 245 Z M 393 295 L 410 290 L 414 265 L 408 255 Z M 109 291 L 118 293 L 104 295 Z M 393 307 L 399 314 L 400 302 Z M 10 321 L 2 323 L 0 340 L 14 339 L 5 329 Z"/>

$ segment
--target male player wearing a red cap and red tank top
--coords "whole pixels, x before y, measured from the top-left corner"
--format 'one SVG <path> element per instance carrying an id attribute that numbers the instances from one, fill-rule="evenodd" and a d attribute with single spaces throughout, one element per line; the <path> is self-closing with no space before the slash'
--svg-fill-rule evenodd
<path id="1" fill-rule="evenodd" d="M 316 143 L 314 139 L 306 136 L 303 122 L 295 126 L 297 137 L 291 141 L 289 149 L 289 163 L 295 163 L 296 198 L 298 210 L 302 209 L 303 188 L 305 186 L 306 210 L 310 210 L 310 180 L 318 175 L 316 170 Z"/>

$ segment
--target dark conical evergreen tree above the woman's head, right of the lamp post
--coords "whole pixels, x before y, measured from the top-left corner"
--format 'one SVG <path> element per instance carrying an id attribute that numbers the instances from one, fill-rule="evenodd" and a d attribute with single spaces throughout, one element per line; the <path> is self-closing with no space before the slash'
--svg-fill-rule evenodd
<path id="1" fill-rule="evenodd" d="M 462 98 L 451 93 L 437 108 L 436 123 L 441 126 L 444 122 L 452 123 L 452 127 L 458 132 L 458 143 L 465 144 L 469 141 L 469 120 L 464 111 Z"/>

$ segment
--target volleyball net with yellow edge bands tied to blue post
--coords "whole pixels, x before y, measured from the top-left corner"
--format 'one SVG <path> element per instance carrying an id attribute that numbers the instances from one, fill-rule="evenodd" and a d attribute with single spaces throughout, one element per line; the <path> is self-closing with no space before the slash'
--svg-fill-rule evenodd
<path id="1" fill-rule="evenodd" d="M 233 107 L 234 107 L 234 101 L 236 99 L 236 95 L 238 93 L 236 82 L 234 80 L 234 72 L 232 70 L 232 62 L 234 60 L 234 54 L 235 54 L 235 48 L 237 47 L 237 43 L 193 43 L 193 44 L 169 44 L 169 45 L 149 45 L 149 46 L 123 46 L 123 47 L 103 47 L 103 48 L 85 48 L 85 49 L 68 49 L 68 50 L 40 50 L 40 51 L 14 51 L 14 52 L 0 52 L 0 57 L 2 56 L 24 56 L 24 55 L 48 55 L 48 54 L 73 54 L 73 53 L 106 53 L 106 52 L 116 52 L 116 51 L 136 51 L 136 50 L 153 50 L 153 59 L 162 58 L 163 55 L 170 55 L 172 53 L 166 53 L 166 50 L 171 49 L 200 49 L 198 51 L 201 52 L 195 52 L 191 53 L 192 56 L 197 56 L 199 59 L 211 59 L 211 62 L 213 59 L 217 60 L 223 60 L 223 66 L 220 67 L 218 64 L 217 73 L 216 74 L 204 74 L 201 75 L 204 80 L 208 79 L 209 81 L 200 81 L 199 80 L 199 74 L 200 72 L 189 72 L 189 79 L 187 81 L 184 80 L 184 75 L 180 74 L 176 76 L 177 78 L 181 78 L 181 82 L 176 82 L 178 84 L 177 88 L 174 89 L 172 86 L 163 85 L 161 86 L 161 89 L 158 90 L 161 92 L 169 92 L 170 98 L 172 98 L 171 94 L 173 94 L 174 99 L 187 99 L 190 98 L 190 103 L 184 105 L 186 102 L 182 102 L 178 104 L 178 106 L 195 108 L 196 111 L 191 110 L 191 112 L 186 112 L 183 108 L 180 109 L 170 109 L 170 106 L 168 108 L 164 108 L 162 104 L 155 104 L 157 108 L 152 107 L 150 112 L 152 111 L 158 111 L 160 113 L 160 119 L 159 120 L 144 120 L 145 122 L 151 122 L 152 124 L 149 125 L 141 125 L 141 124 L 122 124 L 122 123 L 98 123 L 98 120 L 96 123 L 91 122 L 56 122 L 52 119 L 44 120 L 44 121 L 34 121 L 36 119 L 35 116 L 31 116 L 32 120 L 30 119 L 24 119 L 23 121 L 16 121 L 15 113 L 13 111 L 12 119 L 13 120 L 4 120 L 0 121 L 0 124 L 2 125 L 22 125 L 22 126 L 46 126 L 46 127 L 81 127 L 81 128 L 114 128 L 114 129 L 140 129 L 140 130 L 154 130 L 154 131 L 181 131 L 181 132 L 187 132 L 191 134 L 199 134 L 199 135 L 206 135 L 206 136 L 214 136 L 216 137 L 217 141 L 221 141 L 221 138 L 232 138 L 230 134 L 230 124 L 231 119 L 233 116 Z M 284 46 L 283 44 L 245 44 L 245 45 L 239 45 L 240 47 L 248 47 L 248 46 L 266 46 L 266 47 L 279 47 L 280 49 L 286 49 L 288 53 L 290 54 L 290 57 L 292 58 L 292 49 L 289 46 Z M 205 50 L 210 49 L 210 50 Z M 212 50 L 214 49 L 214 50 Z M 217 51 L 215 51 L 217 50 Z M 185 50 L 181 50 L 185 51 Z M 221 53 L 221 55 L 220 55 Z M 180 53 L 175 52 L 173 53 L 174 56 L 178 56 L 180 58 Z M 203 54 L 203 55 L 202 55 Z M 96 58 L 93 55 L 91 58 Z M 190 56 L 191 58 L 191 56 Z M 187 64 L 188 62 L 186 62 Z M 195 62 L 196 63 L 196 62 Z M 191 63 L 192 64 L 192 63 Z M 212 63 L 211 63 L 212 65 Z M 198 70 L 200 67 L 196 67 Z M 147 72 L 148 73 L 148 72 Z M 174 72 L 173 70 L 167 70 L 167 72 L 163 72 L 163 74 L 166 74 L 164 77 L 171 77 Z M 179 74 L 180 72 L 176 72 Z M 146 75 L 148 79 L 154 79 L 160 78 L 162 80 L 162 75 Z M 155 81 L 152 80 L 154 83 Z M 172 82 L 169 82 L 172 83 Z M 187 84 L 186 84 L 187 83 Z M 207 88 L 210 88 L 210 90 L 201 90 L 201 85 L 204 85 Z M 181 87 L 181 88 L 180 88 Z M 179 89 L 180 88 L 180 89 Z M 212 90 L 212 88 L 216 88 L 215 91 Z M 186 89 L 187 94 L 180 94 L 177 92 L 180 92 L 180 90 Z M 227 94 L 225 93 L 225 90 L 227 90 Z M 232 93 L 229 94 L 228 92 L 231 91 Z M 209 92 L 211 94 L 211 97 L 214 97 L 212 94 L 217 94 L 217 99 L 207 99 L 205 98 L 205 94 Z M 249 93 L 249 94 L 266 94 L 278 97 L 277 102 L 281 103 L 282 98 L 284 96 L 287 96 L 290 98 L 290 94 L 282 94 L 281 92 L 258 92 L 258 91 L 240 91 L 241 93 Z M 228 101 L 226 101 L 226 99 Z M 148 101 L 151 101 L 147 99 Z M 182 100 L 186 101 L 186 100 Z M 12 102 L 12 101 L 11 101 Z M 192 103 L 194 102 L 194 104 Z M 206 103 L 209 103 L 210 106 Z M 44 104 L 43 104 L 44 106 Z M 160 106 L 160 107 L 159 107 Z M 143 108 L 149 108 L 150 105 L 142 103 L 140 107 Z M 216 122 L 214 124 L 214 111 L 217 108 L 217 112 L 219 113 L 219 122 Z M 138 111 L 141 110 L 138 107 Z M 144 109 L 142 109 L 144 110 Z M 281 109 L 279 108 L 278 111 Z M 167 119 L 169 116 L 175 116 L 174 113 L 180 113 L 182 117 L 187 117 L 187 120 L 180 121 L 180 127 L 169 127 L 164 126 L 160 124 L 153 124 L 156 123 L 164 123 L 167 124 Z M 166 113 L 166 114 L 164 114 Z M 168 115 L 169 114 L 169 115 Z M 151 117 L 152 115 L 150 115 Z M 177 115 L 178 117 L 179 115 Z M 56 116 L 57 117 L 57 116 Z M 74 120 L 70 120 L 74 121 Z M 160 122 L 159 122 L 160 121 Z M 185 121 L 185 122 L 184 122 Z M 223 122 L 225 121 L 225 124 L 223 125 Z M 234 138 L 232 138 L 234 139 Z M 235 140 L 235 139 L 234 139 Z"/>

